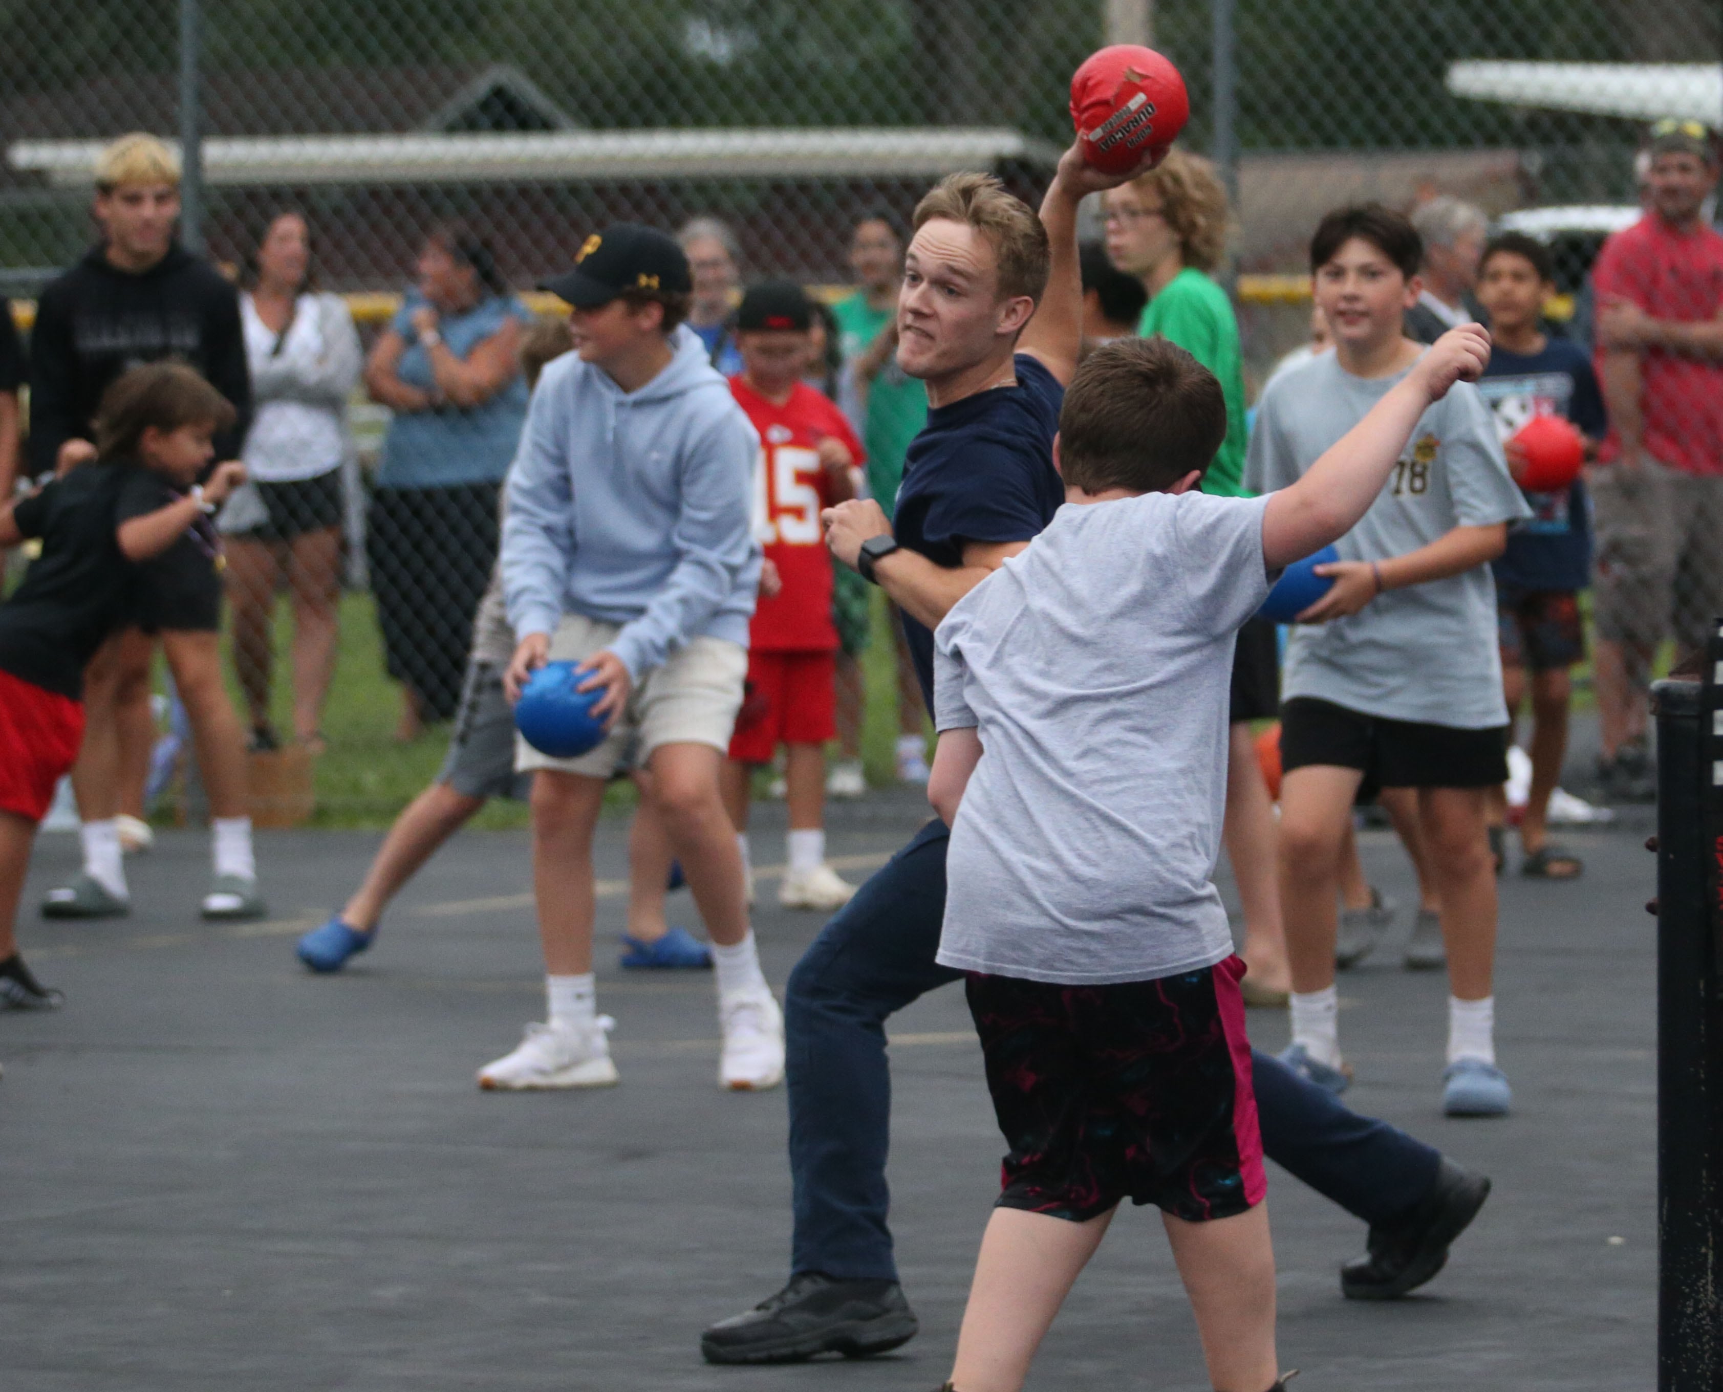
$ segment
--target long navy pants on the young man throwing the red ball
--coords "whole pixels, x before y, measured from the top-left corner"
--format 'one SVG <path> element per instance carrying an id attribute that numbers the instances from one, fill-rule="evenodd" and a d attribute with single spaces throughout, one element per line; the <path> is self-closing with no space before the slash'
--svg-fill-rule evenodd
<path id="1" fill-rule="evenodd" d="M 825 925 L 789 977 L 794 1273 L 898 1278 L 886 1227 L 886 1020 L 961 975 L 934 961 L 946 839 L 944 823 L 922 827 Z M 1268 1054 L 1251 1058 L 1270 1159 L 1366 1223 L 1390 1221 L 1430 1192 L 1437 1151 L 1347 1111 Z"/>

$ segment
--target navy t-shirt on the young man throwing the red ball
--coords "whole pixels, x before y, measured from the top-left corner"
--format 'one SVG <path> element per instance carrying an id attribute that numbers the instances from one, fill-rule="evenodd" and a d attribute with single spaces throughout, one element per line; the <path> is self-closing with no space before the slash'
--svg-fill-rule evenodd
<path id="1" fill-rule="evenodd" d="M 934 565 L 956 569 L 970 541 L 1030 541 L 1065 503 L 1053 467 L 1065 388 L 1029 353 L 1015 367 L 1017 386 L 929 410 L 905 451 L 893 534 Z M 908 613 L 903 631 L 932 710 L 934 634 Z"/>

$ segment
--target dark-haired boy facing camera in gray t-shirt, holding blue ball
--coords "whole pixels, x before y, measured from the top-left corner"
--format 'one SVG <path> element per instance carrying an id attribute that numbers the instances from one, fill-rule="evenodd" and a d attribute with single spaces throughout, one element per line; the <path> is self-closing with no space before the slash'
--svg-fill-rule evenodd
<path id="1" fill-rule="evenodd" d="M 1275 379 L 1258 403 L 1246 477 L 1289 488 L 1372 405 L 1416 372 L 1401 331 L 1418 300 L 1418 233 L 1380 205 L 1328 214 L 1311 241 L 1334 351 Z M 1292 965 L 1282 1060 L 1335 1092 L 1347 1084 L 1334 991 L 1340 846 L 1359 789 L 1418 791 L 1425 858 L 1449 966 L 1449 1115 L 1508 1111 L 1496 1066 L 1496 877 L 1489 792 L 1508 777 L 1496 584 L 1508 524 L 1530 517 L 1490 410 L 1471 386 L 1432 405 L 1370 510 L 1322 567 L 1334 587 L 1287 644 L 1280 708 L 1280 904 Z M 1442 965 L 1415 942 L 1408 965 Z"/>

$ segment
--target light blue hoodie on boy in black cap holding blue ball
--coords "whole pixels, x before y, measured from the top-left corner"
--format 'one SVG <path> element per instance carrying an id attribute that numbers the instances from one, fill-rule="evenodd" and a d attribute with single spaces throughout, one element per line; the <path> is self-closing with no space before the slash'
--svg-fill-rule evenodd
<path id="1" fill-rule="evenodd" d="M 565 613 L 620 624 L 638 682 L 693 637 L 748 646 L 760 436 L 682 326 L 639 391 L 565 353 L 539 377 L 508 474 L 503 600 L 520 637 Z"/>

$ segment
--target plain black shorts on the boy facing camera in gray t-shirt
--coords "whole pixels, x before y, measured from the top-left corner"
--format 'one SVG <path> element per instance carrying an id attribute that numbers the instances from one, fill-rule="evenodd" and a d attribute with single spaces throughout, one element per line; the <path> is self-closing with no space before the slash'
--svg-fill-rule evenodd
<path id="1" fill-rule="evenodd" d="M 1316 763 L 1359 770 L 1361 801 L 1384 787 L 1494 787 L 1508 782 L 1508 727 L 1384 720 L 1294 696 L 1280 708 L 1280 770 Z"/>

